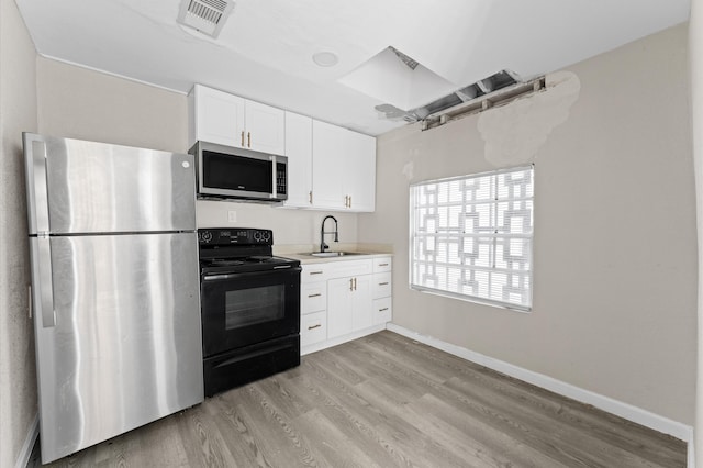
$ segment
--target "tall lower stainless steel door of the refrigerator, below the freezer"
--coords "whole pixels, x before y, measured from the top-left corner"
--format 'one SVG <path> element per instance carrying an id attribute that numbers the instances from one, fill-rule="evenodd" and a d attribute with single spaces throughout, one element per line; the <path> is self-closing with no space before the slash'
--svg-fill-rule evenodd
<path id="1" fill-rule="evenodd" d="M 33 237 L 31 250 L 43 463 L 203 400 L 196 233 Z"/>

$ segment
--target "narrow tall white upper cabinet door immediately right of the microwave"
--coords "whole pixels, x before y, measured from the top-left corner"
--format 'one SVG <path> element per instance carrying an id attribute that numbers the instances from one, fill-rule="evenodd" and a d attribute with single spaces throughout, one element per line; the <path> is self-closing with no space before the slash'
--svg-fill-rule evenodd
<path id="1" fill-rule="evenodd" d="M 286 112 L 288 200 L 286 207 L 310 208 L 312 198 L 312 119 Z"/>

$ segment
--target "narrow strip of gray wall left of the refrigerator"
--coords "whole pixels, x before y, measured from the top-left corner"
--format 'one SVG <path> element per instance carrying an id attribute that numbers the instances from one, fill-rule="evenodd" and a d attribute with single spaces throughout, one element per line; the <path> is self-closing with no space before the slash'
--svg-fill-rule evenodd
<path id="1" fill-rule="evenodd" d="M 14 1 L 0 0 L 0 466 L 18 460 L 36 416 L 22 132 L 36 131 L 36 53 Z"/>

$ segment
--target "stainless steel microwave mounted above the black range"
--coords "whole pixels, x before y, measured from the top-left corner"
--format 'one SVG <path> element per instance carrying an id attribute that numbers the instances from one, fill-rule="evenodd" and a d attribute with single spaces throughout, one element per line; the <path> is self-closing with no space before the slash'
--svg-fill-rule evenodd
<path id="1" fill-rule="evenodd" d="M 279 202 L 288 199 L 288 158 L 252 149 L 198 142 L 198 198 Z"/>

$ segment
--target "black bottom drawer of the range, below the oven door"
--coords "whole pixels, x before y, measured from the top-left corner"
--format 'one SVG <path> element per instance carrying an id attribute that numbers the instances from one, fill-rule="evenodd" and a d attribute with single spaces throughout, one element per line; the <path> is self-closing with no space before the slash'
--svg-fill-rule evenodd
<path id="1" fill-rule="evenodd" d="M 300 336 L 292 335 L 233 349 L 204 359 L 205 397 L 300 365 Z"/>

